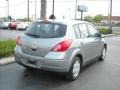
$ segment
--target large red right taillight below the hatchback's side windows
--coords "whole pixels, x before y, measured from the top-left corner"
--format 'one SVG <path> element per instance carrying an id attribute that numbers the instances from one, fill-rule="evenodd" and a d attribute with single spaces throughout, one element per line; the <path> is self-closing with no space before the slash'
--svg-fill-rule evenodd
<path id="1" fill-rule="evenodd" d="M 72 44 L 73 40 L 64 40 L 60 43 L 58 43 L 53 49 L 52 51 L 54 52 L 64 52 L 66 51 Z"/>

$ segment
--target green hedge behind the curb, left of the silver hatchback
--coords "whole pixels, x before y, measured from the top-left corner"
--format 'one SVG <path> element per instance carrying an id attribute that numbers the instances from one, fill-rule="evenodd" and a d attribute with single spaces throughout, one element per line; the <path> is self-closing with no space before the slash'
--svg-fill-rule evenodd
<path id="1" fill-rule="evenodd" d="M 15 45 L 15 40 L 0 41 L 0 58 L 13 55 Z"/>

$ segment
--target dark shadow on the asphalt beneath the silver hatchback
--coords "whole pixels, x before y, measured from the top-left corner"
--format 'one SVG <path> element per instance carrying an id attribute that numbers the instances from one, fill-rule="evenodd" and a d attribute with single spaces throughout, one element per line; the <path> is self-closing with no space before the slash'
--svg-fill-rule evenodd
<path id="1" fill-rule="evenodd" d="M 91 62 L 90 64 L 83 67 L 81 74 L 84 74 L 84 71 L 88 71 L 89 68 L 93 67 L 94 65 L 98 64 L 98 61 Z M 82 79 L 83 79 L 82 75 Z M 79 81 L 78 81 L 79 80 Z M 22 70 L 22 73 L 19 78 L 19 82 L 17 82 L 17 87 L 23 86 L 34 86 L 34 87 L 44 87 L 44 88 L 57 88 L 60 86 L 66 85 L 75 85 L 75 83 L 80 82 L 80 79 L 76 80 L 75 82 L 70 82 L 66 80 L 63 74 L 49 72 L 44 70 Z"/>

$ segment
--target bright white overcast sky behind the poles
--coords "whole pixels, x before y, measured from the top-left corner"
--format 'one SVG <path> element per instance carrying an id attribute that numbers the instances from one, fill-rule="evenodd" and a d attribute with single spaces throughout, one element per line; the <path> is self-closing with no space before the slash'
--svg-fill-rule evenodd
<path id="1" fill-rule="evenodd" d="M 37 18 L 40 17 L 40 1 L 37 0 Z M 75 17 L 76 0 L 55 0 L 55 15 L 61 19 Z M 97 14 L 108 15 L 109 0 L 78 0 L 78 5 L 85 5 L 88 10 L 84 16 L 95 16 Z M 9 15 L 14 18 L 27 17 L 27 0 L 9 0 Z M 0 0 L 0 17 L 6 17 L 7 1 Z M 52 0 L 47 0 L 47 18 L 52 13 Z M 35 16 L 35 0 L 30 0 L 30 17 Z M 113 16 L 120 16 L 120 0 L 113 0 Z M 77 12 L 77 18 L 80 18 L 80 12 Z"/>

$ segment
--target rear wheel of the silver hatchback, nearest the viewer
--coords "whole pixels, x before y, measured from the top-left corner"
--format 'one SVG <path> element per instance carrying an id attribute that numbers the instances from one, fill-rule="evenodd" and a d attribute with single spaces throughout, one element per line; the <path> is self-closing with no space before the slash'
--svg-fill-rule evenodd
<path id="1" fill-rule="evenodd" d="M 80 71 L 81 71 L 81 60 L 79 57 L 76 56 L 73 59 L 73 62 L 72 62 L 69 72 L 66 74 L 67 80 L 69 80 L 69 81 L 76 80 L 80 75 Z"/>

